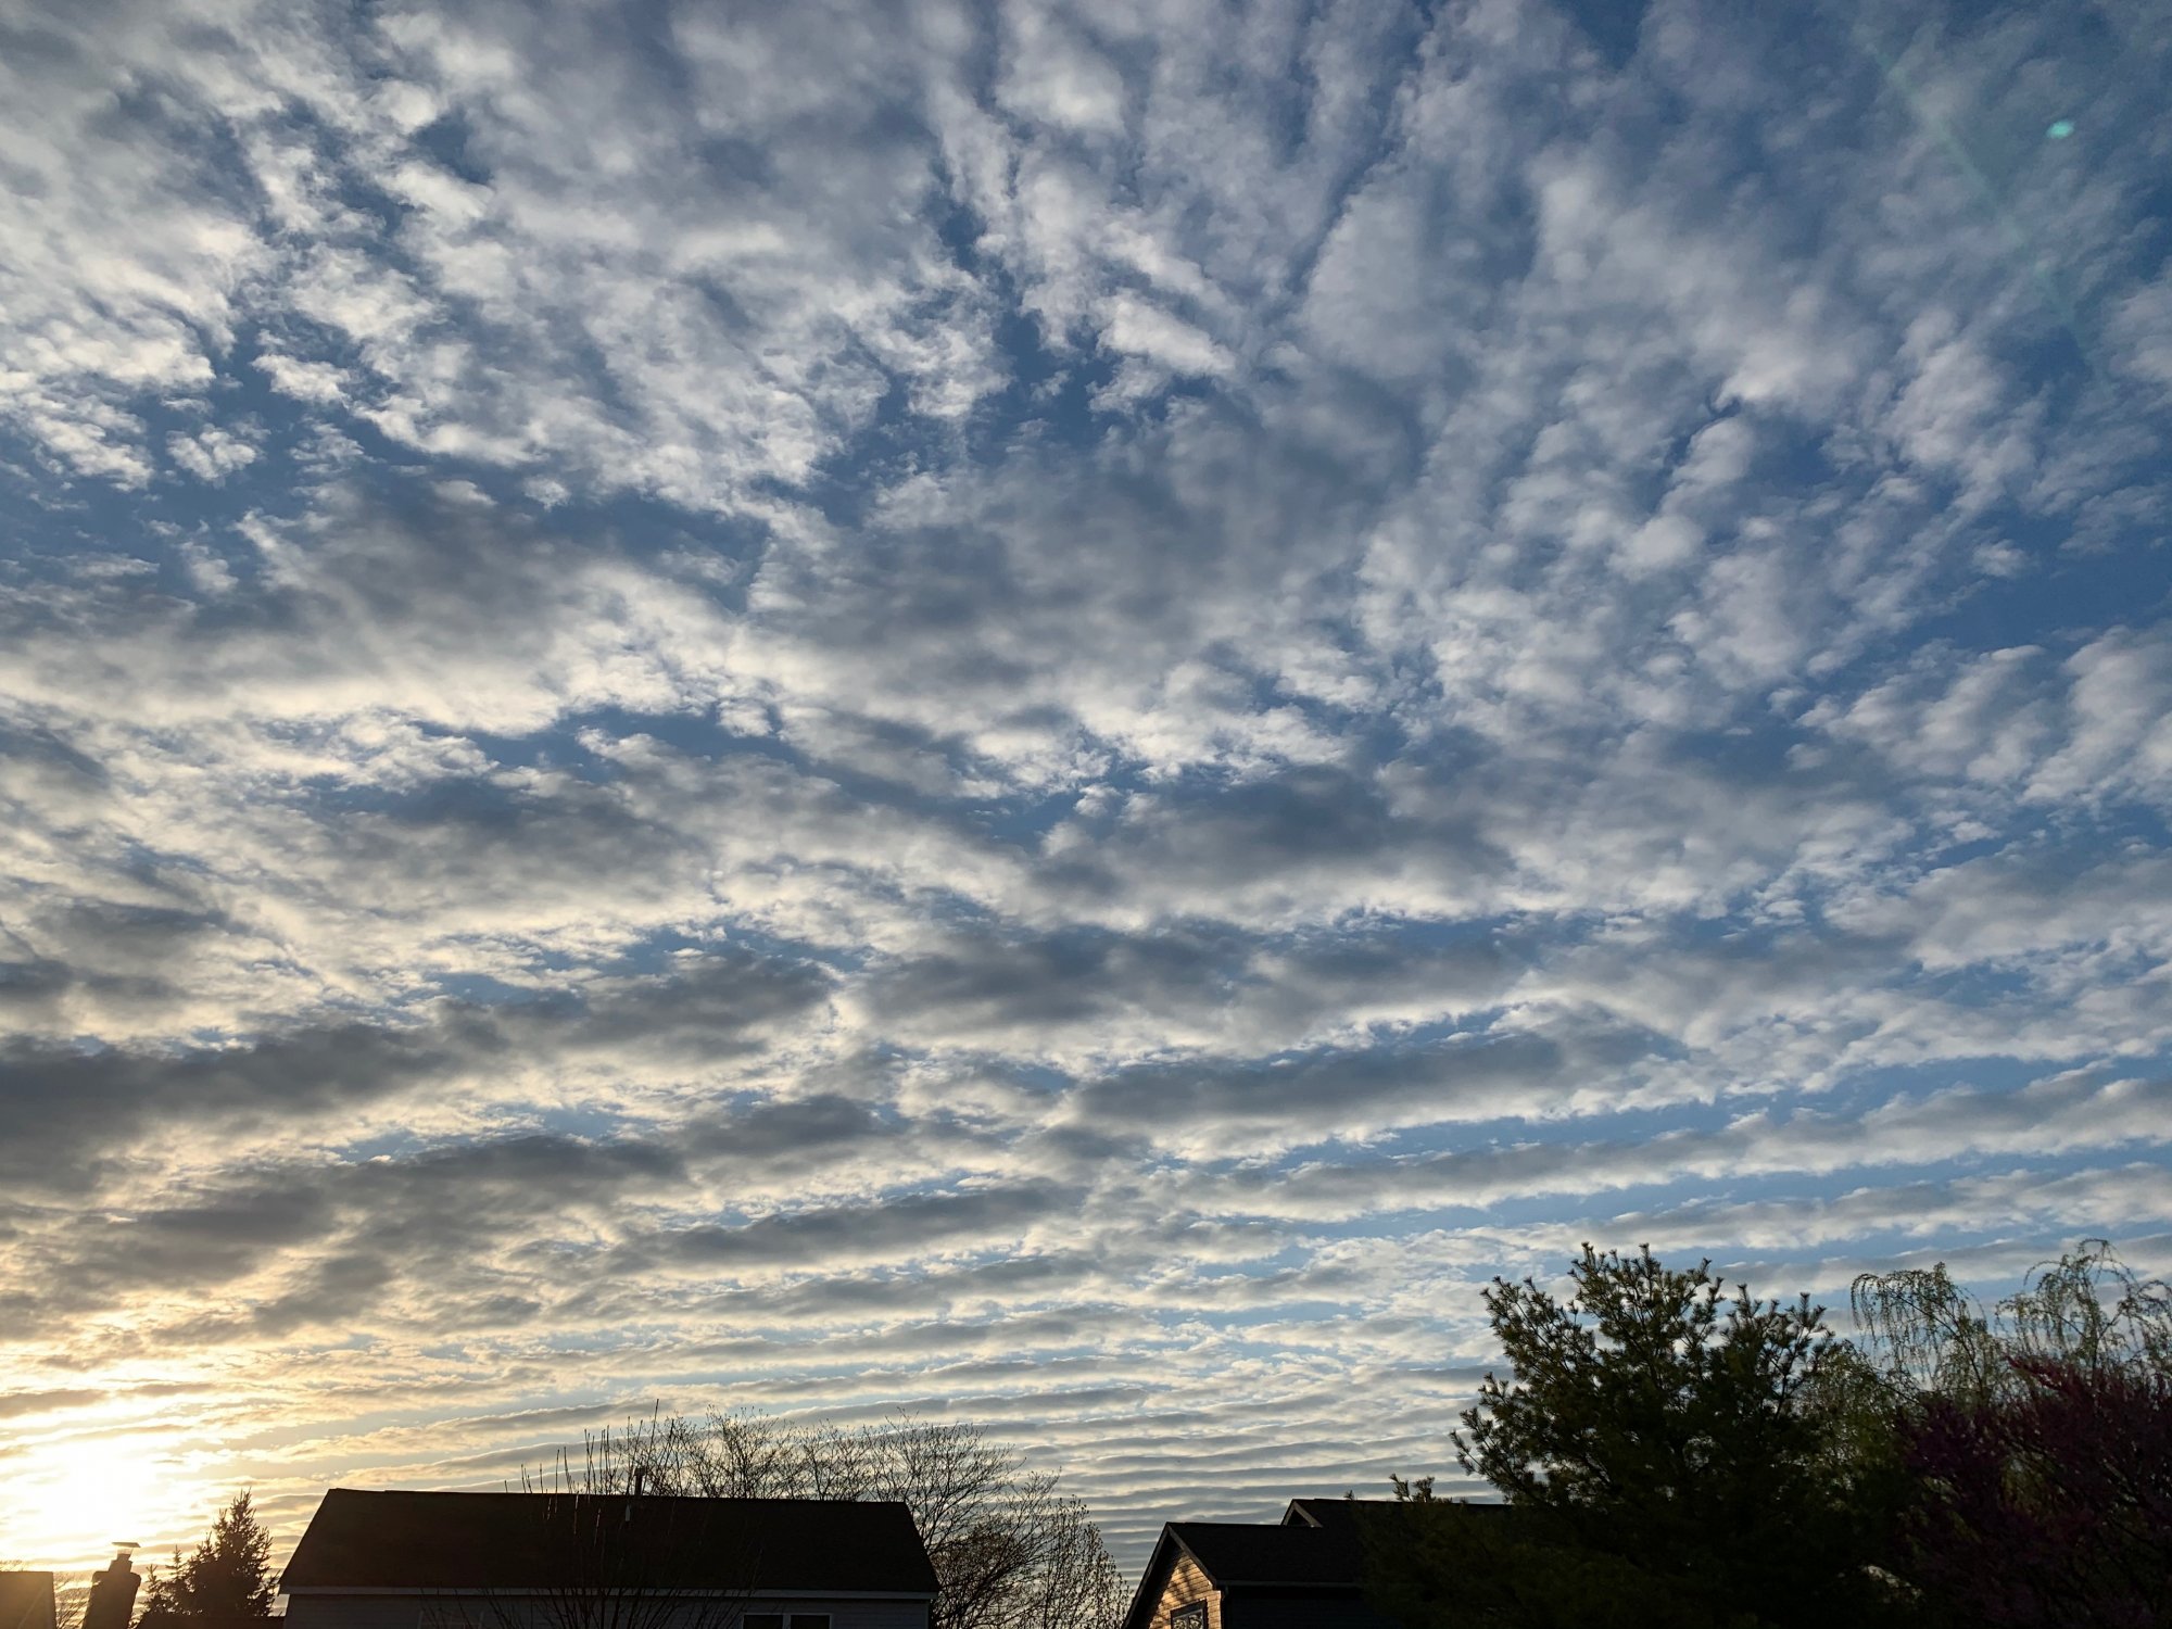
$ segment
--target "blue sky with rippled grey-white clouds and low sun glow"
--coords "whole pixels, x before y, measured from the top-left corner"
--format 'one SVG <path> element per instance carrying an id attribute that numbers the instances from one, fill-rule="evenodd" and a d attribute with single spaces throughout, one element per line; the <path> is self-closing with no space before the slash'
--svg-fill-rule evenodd
<path id="1" fill-rule="evenodd" d="M 2150 0 L 0 0 L 0 1555 L 2172 1268 Z M 1844 1327 L 1844 1316 L 1840 1318 Z"/>

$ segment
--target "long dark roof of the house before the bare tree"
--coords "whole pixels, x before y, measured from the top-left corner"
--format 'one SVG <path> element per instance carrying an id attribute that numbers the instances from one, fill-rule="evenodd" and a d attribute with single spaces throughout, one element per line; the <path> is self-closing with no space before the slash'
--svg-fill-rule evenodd
<path id="1" fill-rule="evenodd" d="M 280 1590 L 823 1590 L 932 1596 L 895 1501 L 332 1488 Z"/>

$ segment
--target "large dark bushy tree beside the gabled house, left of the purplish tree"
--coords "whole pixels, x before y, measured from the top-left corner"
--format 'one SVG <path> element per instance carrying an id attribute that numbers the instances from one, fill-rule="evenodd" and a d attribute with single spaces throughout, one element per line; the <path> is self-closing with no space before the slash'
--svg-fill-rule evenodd
<path id="1" fill-rule="evenodd" d="M 1531 1279 L 1486 1290 L 1510 1379 L 1486 1377 L 1455 1451 L 1507 1494 L 1507 1514 L 1399 1483 L 1418 1510 L 1390 1544 L 1375 1538 L 1377 1599 L 1442 1625 L 1883 1612 L 1866 1512 L 1833 1477 L 1833 1416 L 1818 1403 L 1833 1355 L 1822 1310 L 1729 1295 L 1709 1262 L 1666 1268 L 1649 1249 L 1586 1245 L 1568 1275 L 1566 1299 Z"/>

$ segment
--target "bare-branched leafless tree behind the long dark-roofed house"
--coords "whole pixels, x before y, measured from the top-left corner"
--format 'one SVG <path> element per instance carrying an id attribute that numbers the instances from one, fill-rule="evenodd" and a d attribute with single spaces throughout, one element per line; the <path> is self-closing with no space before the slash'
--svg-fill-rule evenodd
<path id="1" fill-rule="evenodd" d="M 749 1412 L 652 1414 L 591 1434 L 580 1460 L 560 1455 L 550 1477 L 593 1492 L 626 1492 L 639 1479 L 658 1494 L 897 1499 L 936 1568 L 932 1629 L 1108 1629 L 1125 1607 L 1086 1503 L 977 1425 L 893 1418 L 845 1429 Z"/>

